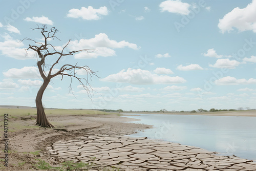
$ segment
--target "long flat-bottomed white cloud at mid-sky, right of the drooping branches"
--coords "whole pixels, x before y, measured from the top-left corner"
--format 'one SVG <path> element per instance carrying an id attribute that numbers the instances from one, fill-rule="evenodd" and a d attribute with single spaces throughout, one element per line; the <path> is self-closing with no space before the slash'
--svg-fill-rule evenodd
<path id="1" fill-rule="evenodd" d="M 101 81 L 111 82 L 129 82 L 133 84 L 165 84 L 165 83 L 184 83 L 186 80 L 182 77 L 170 77 L 167 75 L 152 74 L 150 71 L 141 69 L 121 70 L 117 74 L 109 75 Z"/>

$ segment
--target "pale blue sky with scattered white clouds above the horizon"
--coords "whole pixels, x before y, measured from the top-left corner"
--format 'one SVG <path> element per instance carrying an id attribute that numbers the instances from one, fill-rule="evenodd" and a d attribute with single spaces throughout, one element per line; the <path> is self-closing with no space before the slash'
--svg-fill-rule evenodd
<path id="1" fill-rule="evenodd" d="M 91 96 L 79 82 L 54 77 L 46 108 L 189 111 L 256 108 L 256 0 L 38 1 L 0 7 L 0 105 L 35 106 L 42 84 L 41 25 L 58 29 L 57 51 L 94 49 L 61 58 L 89 66 Z M 38 25 L 38 26 L 37 26 Z M 66 51 L 65 51 L 66 52 Z M 46 72 L 57 56 L 48 56 Z M 76 64 L 77 63 L 77 64 Z M 87 77 L 82 70 L 76 75 Z"/>

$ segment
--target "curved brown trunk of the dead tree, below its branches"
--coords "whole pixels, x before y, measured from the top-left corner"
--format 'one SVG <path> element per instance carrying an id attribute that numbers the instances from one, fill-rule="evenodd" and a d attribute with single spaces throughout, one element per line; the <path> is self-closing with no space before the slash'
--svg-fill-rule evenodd
<path id="1" fill-rule="evenodd" d="M 50 79 L 44 79 L 44 83 L 37 92 L 35 104 L 36 104 L 36 125 L 41 127 L 54 127 L 46 118 L 44 107 L 42 106 L 42 94 L 46 90 Z"/>

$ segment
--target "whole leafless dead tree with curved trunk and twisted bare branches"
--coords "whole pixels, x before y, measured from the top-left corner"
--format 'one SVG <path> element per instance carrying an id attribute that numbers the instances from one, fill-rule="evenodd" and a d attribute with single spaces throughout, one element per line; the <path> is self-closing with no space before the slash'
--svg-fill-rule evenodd
<path id="1" fill-rule="evenodd" d="M 79 67 L 79 66 L 77 66 L 77 63 L 76 63 L 76 65 L 70 65 L 70 64 L 63 65 L 62 67 L 60 67 L 59 71 L 54 74 L 52 74 L 53 68 L 56 67 L 56 64 L 59 62 L 59 60 L 63 56 L 73 55 L 74 53 L 81 52 L 81 51 L 87 51 L 88 53 L 91 53 L 93 50 L 83 49 L 83 50 L 71 51 L 71 52 L 65 53 L 65 49 L 68 47 L 68 45 L 71 41 L 71 39 L 70 39 L 68 41 L 68 43 L 66 44 L 66 46 L 64 46 L 62 48 L 62 51 L 58 52 L 55 50 L 53 45 L 48 43 L 48 41 L 50 39 L 53 39 L 53 40 L 55 38 L 58 39 L 55 36 L 55 34 L 58 32 L 58 30 L 55 29 L 55 27 L 52 27 L 51 29 L 48 30 L 46 25 L 41 25 L 41 27 L 37 26 L 37 28 L 32 29 L 32 30 L 40 30 L 42 36 L 44 36 L 44 42 L 37 42 L 30 38 L 23 39 L 23 40 L 33 41 L 34 45 L 29 45 L 29 48 L 26 49 L 26 51 L 33 50 L 38 55 L 39 58 L 37 61 L 37 67 L 38 67 L 40 76 L 44 80 L 44 82 L 42 83 L 42 86 L 40 87 L 40 89 L 37 92 L 36 99 L 35 99 L 35 103 L 36 103 L 36 123 L 35 124 L 38 126 L 41 126 L 41 127 L 54 127 L 47 120 L 44 106 L 42 105 L 42 95 L 44 94 L 51 79 L 53 77 L 56 77 L 57 75 L 61 75 L 61 77 L 62 77 L 61 80 L 63 79 L 63 76 L 70 77 L 71 78 L 71 82 L 70 82 L 70 86 L 69 86 L 70 91 L 72 91 L 72 87 L 71 87 L 72 79 L 76 79 L 83 86 L 83 88 L 87 91 L 88 95 L 91 95 L 90 90 L 93 91 L 93 89 L 88 81 L 89 81 L 89 79 L 92 78 L 93 75 L 95 75 L 95 76 L 97 76 L 97 75 L 88 66 Z M 45 63 L 45 60 L 47 57 L 51 57 L 53 55 L 58 55 L 58 58 L 53 63 L 52 66 L 48 67 L 49 71 L 46 72 L 47 65 Z M 77 69 L 86 71 L 87 77 L 86 78 L 77 77 L 76 76 Z"/>

